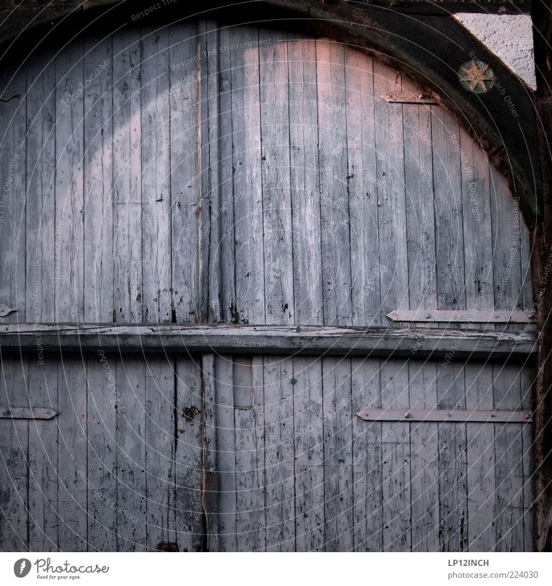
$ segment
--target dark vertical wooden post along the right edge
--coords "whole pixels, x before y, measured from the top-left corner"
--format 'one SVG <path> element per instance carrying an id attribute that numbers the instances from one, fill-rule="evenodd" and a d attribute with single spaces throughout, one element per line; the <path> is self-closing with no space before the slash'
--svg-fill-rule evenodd
<path id="1" fill-rule="evenodd" d="M 543 175 L 543 213 L 533 230 L 533 295 L 539 324 L 538 363 L 533 389 L 535 510 L 537 551 L 552 549 L 552 12 L 543 0 L 533 3 L 533 35 L 538 89 L 535 109 Z"/>

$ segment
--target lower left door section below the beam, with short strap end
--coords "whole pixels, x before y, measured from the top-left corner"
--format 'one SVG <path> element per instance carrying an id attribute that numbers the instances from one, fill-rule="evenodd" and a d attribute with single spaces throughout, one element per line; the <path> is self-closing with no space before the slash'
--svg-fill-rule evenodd
<path id="1" fill-rule="evenodd" d="M 4 357 L 1 549 L 206 549 L 202 389 L 201 357 Z"/>

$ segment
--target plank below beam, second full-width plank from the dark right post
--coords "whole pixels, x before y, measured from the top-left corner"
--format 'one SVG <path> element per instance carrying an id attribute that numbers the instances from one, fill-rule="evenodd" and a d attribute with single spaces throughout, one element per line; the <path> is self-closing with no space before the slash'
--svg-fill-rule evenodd
<path id="1" fill-rule="evenodd" d="M 466 409 L 493 409 L 493 372 L 466 364 Z M 495 432 L 493 425 L 466 423 L 468 461 L 468 551 L 496 547 Z"/>

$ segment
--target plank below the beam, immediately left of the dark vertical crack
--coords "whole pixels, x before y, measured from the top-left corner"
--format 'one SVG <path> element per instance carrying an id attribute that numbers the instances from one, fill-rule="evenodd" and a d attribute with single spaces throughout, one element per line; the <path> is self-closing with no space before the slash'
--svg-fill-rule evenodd
<path id="1" fill-rule="evenodd" d="M 172 360 L 151 356 L 146 367 L 146 543 L 174 547 L 175 371 Z"/>

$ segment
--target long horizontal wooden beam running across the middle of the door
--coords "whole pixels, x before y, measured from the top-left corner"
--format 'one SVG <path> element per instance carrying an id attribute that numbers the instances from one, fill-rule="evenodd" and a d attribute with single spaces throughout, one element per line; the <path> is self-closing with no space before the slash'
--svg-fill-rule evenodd
<path id="1" fill-rule="evenodd" d="M 536 335 L 448 328 L 4 324 L 1 351 L 216 352 L 526 359 Z"/>

